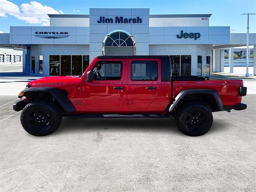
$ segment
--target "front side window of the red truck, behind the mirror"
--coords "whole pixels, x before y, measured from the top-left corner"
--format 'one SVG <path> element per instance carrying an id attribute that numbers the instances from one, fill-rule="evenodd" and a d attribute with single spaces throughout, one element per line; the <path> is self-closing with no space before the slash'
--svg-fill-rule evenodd
<path id="1" fill-rule="evenodd" d="M 93 69 L 94 80 L 121 80 L 121 62 L 99 62 Z"/>

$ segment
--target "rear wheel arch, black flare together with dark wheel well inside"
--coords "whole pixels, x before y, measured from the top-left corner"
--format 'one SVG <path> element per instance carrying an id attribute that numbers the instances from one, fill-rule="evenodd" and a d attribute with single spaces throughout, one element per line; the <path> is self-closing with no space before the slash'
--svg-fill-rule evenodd
<path id="1" fill-rule="evenodd" d="M 223 104 L 220 95 L 212 89 L 189 89 L 182 90 L 170 103 L 167 110 L 173 112 L 174 109 L 184 102 L 201 101 L 208 104 L 213 112 L 223 111 Z"/>

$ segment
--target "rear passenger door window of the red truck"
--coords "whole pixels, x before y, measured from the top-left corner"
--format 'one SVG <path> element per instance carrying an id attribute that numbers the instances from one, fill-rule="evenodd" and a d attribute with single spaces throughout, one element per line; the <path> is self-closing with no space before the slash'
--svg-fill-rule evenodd
<path id="1" fill-rule="evenodd" d="M 132 61 L 132 80 L 157 80 L 158 63 L 156 61 Z"/>

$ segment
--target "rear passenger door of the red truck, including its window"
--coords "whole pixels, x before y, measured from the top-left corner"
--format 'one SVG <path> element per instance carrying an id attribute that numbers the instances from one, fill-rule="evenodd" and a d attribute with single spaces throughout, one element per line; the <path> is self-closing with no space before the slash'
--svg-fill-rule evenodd
<path id="1" fill-rule="evenodd" d="M 160 59 L 127 60 L 128 108 L 147 109 L 161 91 Z"/>

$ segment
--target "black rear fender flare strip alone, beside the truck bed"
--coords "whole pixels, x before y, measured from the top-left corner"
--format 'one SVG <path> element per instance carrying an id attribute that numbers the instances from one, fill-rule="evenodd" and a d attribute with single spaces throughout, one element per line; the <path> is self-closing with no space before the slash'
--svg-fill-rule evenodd
<path id="1" fill-rule="evenodd" d="M 216 90 L 213 89 L 187 89 L 187 90 L 182 90 L 181 92 L 178 93 L 178 95 L 175 97 L 175 99 L 170 103 L 168 106 L 168 111 L 172 112 L 175 107 L 178 105 L 178 103 L 187 95 L 191 94 L 204 94 L 204 95 L 210 95 L 214 98 L 218 111 L 224 111 L 224 107 L 222 104 L 222 100 L 220 98 L 220 95 Z"/>

